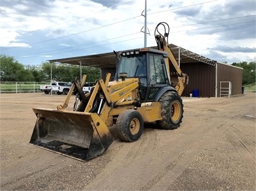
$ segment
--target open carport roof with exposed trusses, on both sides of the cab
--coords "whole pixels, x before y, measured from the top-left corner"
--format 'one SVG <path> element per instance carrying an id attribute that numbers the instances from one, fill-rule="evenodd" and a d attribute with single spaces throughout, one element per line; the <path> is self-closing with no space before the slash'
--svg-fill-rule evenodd
<path id="1" fill-rule="evenodd" d="M 178 60 L 178 52 L 180 50 L 180 63 L 192 63 L 192 62 L 204 62 L 209 65 L 215 66 L 217 63 L 215 60 L 211 60 L 207 57 L 200 56 L 200 54 L 196 54 L 192 51 L 186 50 L 184 48 L 175 46 L 174 44 L 169 44 L 174 57 Z M 155 48 L 149 47 L 149 48 Z M 138 48 L 136 48 L 138 49 Z M 135 49 L 134 49 L 135 50 Z M 78 57 L 67 57 L 63 59 L 54 59 L 48 60 L 49 62 L 55 63 L 65 63 L 70 65 L 81 65 L 88 66 L 94 68 L 115 68 L 115 53 L 102 53 L 102 54 L 92 54 L 88 56 L 78 56 Z"/>

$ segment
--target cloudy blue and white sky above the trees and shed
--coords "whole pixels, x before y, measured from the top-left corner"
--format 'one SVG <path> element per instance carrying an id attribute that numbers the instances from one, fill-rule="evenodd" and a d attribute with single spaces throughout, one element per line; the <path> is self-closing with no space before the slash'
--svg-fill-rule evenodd
<path id="1" fill-rule="evenodd" d="M 256 60 L 255 0 L 1 0 L 0 54 L 23 65 L 169 44 L 218 62 Z M 141 32 L 142 31 L 142 32 Z"/>

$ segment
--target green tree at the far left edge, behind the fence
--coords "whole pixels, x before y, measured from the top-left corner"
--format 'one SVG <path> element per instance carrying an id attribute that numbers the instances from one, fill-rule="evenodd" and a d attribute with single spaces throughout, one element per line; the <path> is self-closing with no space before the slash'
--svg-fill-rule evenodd
<path id="1" fill-rule="evenodd" d="M 0 55 L 1 81 L 34 81 L 34 76 L 14 57 Z"/>

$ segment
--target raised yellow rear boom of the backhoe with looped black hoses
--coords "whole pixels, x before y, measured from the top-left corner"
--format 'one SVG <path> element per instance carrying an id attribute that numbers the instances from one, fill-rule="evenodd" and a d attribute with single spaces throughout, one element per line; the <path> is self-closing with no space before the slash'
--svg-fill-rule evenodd
<path id="1" fill-rule="evenodd" d="M 165 29 L 165 33 L 162 35 L 158 31 L 158 27 L 162 25 L 163 28 Z M 167 32 L 166 32 L 167 31 Z M 156 32 L 158 34 L 156 34 Z M 177 90 L 178 94 L 181 95 L 186 84 L 188 84 L 188 76 L 187 74 L 184 74 L 180 67 L 178 66 L 177 60 L 174 57 L 174 54 L 171 51 L 171 48 L 169 48 L 169 43 L 168 43 L 168 35 L 169 35 L 169 26 L 165 22 L 161 22 L 156 26 L 156 29 L 154 31 L 154 37 L 156 38 L 156 43 L 157 43 L 157 48 L 158 50 L 163 50 L 168 53 L 168 57 L 165 59 L 165 62 L 167 63 L 167 71 L 168 75 L 170 77 L 170 68 L 171 64 L 174 66 L 176 72 L 177 72 L 177 77 L 178 77 L 178 83 L 175 84 L 175 89 Z"/>

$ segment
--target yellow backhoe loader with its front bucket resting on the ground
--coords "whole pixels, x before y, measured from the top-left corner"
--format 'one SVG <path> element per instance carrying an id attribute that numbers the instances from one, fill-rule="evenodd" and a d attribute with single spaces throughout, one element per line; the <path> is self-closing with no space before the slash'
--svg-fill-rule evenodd
<path id="1" fill-rule="evenodd" d="M 163 26 L 165 33 L 158 28 Z M 166 32 L 168 31 L 168 32 Z M 75 80 L 64 102 L 55 110 L 33 108 L 37 116 L 29 144 L 86 161 L 104 153 L 114 138 L 109 126 L 115 125 L 121 141 L 141 137 L 145 122 L 158 128 L 176 129 L 183 118 L 181 93 L 188 81 L 168 46 L 169 26 L 159 23 L 155 29 L 158 50 L 140 48 L 123 51 L 115 80 L 98 80 L 84 94 Z M 67 110 L 73 90 L 73 111 Z"/>

